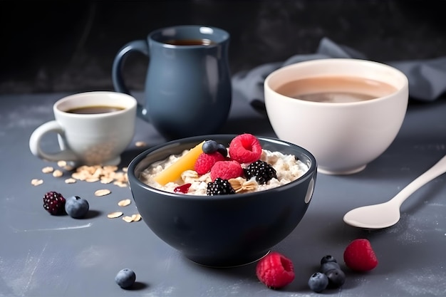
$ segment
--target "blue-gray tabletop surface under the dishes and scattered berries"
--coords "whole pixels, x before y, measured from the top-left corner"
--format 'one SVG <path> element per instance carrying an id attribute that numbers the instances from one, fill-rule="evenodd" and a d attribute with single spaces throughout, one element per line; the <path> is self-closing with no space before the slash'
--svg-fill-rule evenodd
<path id="1" fill-rule="evenodd" d="M 28 149 L 31 132 L 52 120 L 52 104 L 66 94 L 0 95 L 0 296 L 320 296 L 307 287 L 322 256 L 342 261 L 343 250 L 356 238 L 368 238 L 379 259 L 369 273 L 345 269 L 347 280 L 334 296 L 446 296 L 446 185 L 437 177 L 408 199 L 400 222 L 368 231 L 343 223 L 348 210 L 384 202 L 422 174 L 446 152 L 446 100 L 410 104 L 397 139 L 388 150 L 350 176 L 318 174 L 313 200 L 299 226 L 275 251 L 293 262 L 296 278 L 281 290 L 271 290 L 255 276 L 255 264 L 234 269 L 209 269 L 193 264 L 157 238 L 144 222 L 108 219 L 109 212 L 137 212 L 128 187 L 77 182 L 44 174 L 55 163 L 39 160 Z M 141 94 L 135 95 L 141 98 Z M 317 120 L 317 119 L 315 119 Z M 123 166 L 164 140 L 138 120 L 134 142 L 123 154 Z M 311 125 L 308 125 L 311 127 Z M 274 136 L 268 120 L 234 96 L 232 112 L 221 132 L 251 132 Z M 54 135 L 53 135 L 54 136 Z M 56 145 L 47 137 L 43 147 Z M 31 179 L 44 183 L 31 185 Z M 112 193 L 94 197 L 96 189 Z M 78 195 L 90 202 L 86 219 L 53 217 L 43 210 L 45 192 Z M 130 268 L 138 283 L 123 290 L 115 274 Z M 345 268 L 345 267 L 344 267 Z"/>

